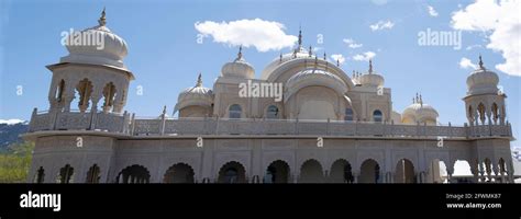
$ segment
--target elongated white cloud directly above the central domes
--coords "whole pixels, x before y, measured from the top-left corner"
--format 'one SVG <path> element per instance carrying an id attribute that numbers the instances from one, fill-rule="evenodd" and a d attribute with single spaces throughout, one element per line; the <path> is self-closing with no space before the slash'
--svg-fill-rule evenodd
<path id="1" fill-rule="evenodd" d="M 231 46 L 253 46 L 258 51 L 291 48 L 297 36 L 287 35 L 284 24 L 274 21 L 237 20 L 217 23 L 213 21 L 197 22 L 196 30 L 204 36 L 212 36 L 213 42 Z"/>

